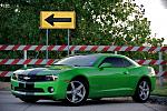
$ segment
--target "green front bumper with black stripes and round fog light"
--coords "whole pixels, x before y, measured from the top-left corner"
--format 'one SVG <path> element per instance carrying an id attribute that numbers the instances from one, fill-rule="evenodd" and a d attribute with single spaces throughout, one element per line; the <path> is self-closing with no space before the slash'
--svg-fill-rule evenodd
<path id="1" fill-rule="evenodd" d="M 53 91 L 49 89 L 52 88 Z M 36 97 L 39 99 L 63 99 L 67 83 L 60 81 L 21 82 L 11 79 L 11 92 L 17 98 Z"/>

